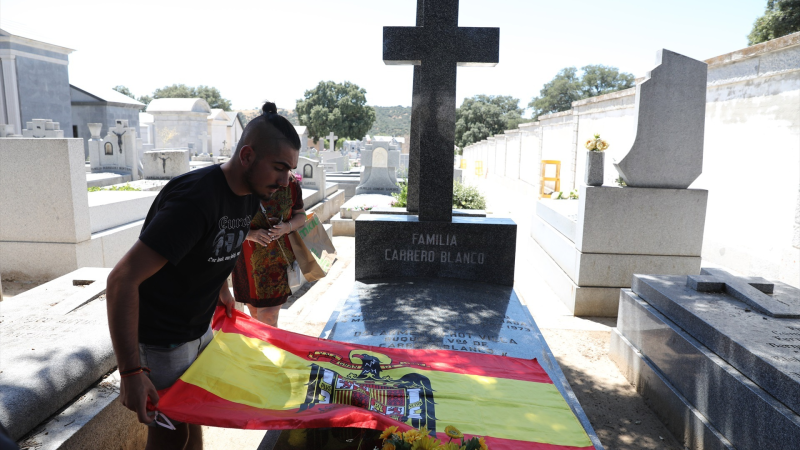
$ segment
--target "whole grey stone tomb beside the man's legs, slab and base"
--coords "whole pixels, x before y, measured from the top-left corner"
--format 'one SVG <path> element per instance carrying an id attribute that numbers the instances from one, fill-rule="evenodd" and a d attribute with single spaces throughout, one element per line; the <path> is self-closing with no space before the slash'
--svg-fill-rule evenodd
<path id="1" fill-rule="evenodd" d="M 118 377 L 97 386 L 116 366 L 104 296 L 110 270 L 79 269 L 3 302 L 0 422 L 12 439 L 35 448 L 144 445 L 146 427 L 113 401 Z M 95 419 L 104 423 L 82 434 Z"/>

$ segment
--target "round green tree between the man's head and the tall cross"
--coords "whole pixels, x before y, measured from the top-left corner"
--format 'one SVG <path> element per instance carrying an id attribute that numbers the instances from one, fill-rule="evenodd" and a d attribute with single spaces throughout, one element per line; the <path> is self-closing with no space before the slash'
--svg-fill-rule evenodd
<path id="1" fill-rule="evenodd" d="M 340 137 L 361 139 L 375 122 L 375 109 L 367 106 L 366 94 L 349 81 L 320 81 L 297 100 L 295 112 L 314 142 L 331 131 Z"/>

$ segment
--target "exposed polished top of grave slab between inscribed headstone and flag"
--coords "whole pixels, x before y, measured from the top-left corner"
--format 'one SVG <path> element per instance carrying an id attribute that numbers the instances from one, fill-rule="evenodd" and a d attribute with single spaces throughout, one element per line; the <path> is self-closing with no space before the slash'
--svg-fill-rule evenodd
<path id="1" fill-rule="evenodd" d="M 455 280 L 356 282 L 320 337 L 378 347 L 376 351 L 443 349 L 536 358 L 595 448 L 603 448 L 536 322 L 509 287 Z M 439 428 L 437 422 L 436 427 L 441 431 L 444 425 Z M 259 448 L 283 448 L 274 443 L 290 433 L 268 432 Z"/>

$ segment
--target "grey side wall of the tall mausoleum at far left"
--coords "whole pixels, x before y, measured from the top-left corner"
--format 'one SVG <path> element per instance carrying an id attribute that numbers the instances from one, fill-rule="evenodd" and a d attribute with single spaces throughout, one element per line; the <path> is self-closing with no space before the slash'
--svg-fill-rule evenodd
<path id="1" fill-rule="evenodd" d="M 22 126 L 33 119 L 50 119 L 60 124 L 65 136 L 72 136 L 68 66 L 23 56 L 16 58 L 16 66 Z"/>

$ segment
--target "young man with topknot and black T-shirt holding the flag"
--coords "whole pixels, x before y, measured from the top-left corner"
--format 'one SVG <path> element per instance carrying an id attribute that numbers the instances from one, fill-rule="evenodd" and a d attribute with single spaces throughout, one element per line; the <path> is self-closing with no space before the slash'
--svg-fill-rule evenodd
<path id="1" fill-rule="evenodd" d="M 294 127 L 274 104 L 263 111 L 247 125 L 228 162 L 194 170 L 164 187 L 139 240 L 108 276 L 120 400 L 142 423 L 155 425 L 147 399 L 158 404 L 157 391 L 175 383 L 211 340 L 216 305 L 231 315 L 227 278 L 259 199 L 288 185 L 297 167 L 300 138 Z M 174 431 L 151 426 L 147 449 L 202 448 L 199 425 L 174 425 Z"/>

